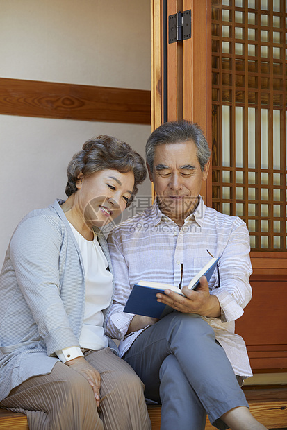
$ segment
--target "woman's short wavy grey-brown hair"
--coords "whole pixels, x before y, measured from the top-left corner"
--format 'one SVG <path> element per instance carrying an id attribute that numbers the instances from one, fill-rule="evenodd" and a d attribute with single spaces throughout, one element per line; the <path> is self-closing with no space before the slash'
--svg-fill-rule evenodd
<path id="1" fill-rule="evenodd" d="M 121 173 L 133 172 L 135 184 L 127 205 L 129 206 L 138 192 L 138 184 L 141 184 L 147 176 L 145 161 L 129 144 L 112 136 L 92 137 L 83 144 L 83 149 L 74 155 L 67 167 L 68 180 L 65 193 L 68 197 L 76 193 L 76 182 L 79 180 L 80 173 L 88 176 L 106 169 Z"/>

